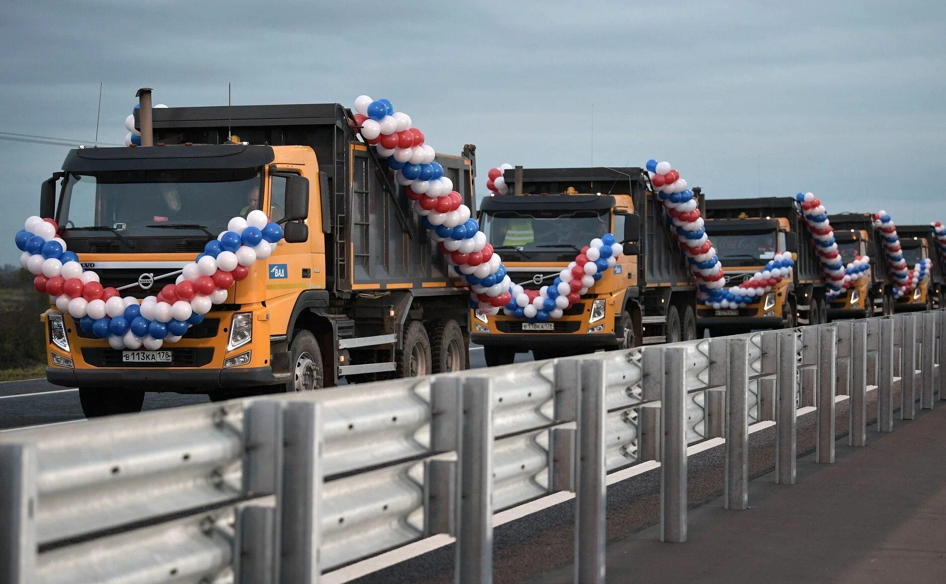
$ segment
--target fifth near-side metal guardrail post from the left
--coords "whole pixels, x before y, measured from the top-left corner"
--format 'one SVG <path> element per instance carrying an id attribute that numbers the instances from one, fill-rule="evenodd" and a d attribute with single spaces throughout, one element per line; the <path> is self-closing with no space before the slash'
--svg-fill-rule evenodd
<path id="1" fill-rule="evenodd" d="M 660 400 L 663 440 L 660 456 L 660 540 L 687 540 L 687 384 L 686 349 L 663 353 Z"/>

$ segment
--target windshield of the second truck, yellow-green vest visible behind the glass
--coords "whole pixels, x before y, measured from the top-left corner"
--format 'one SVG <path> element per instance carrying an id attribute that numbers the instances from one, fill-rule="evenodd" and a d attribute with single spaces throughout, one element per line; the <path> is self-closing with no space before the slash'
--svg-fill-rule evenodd
<path id="1" fill-rule="evenodd" d="M 607 213 L 549 210 L 494 211 L 484 215 L 483 231 L 494 248 L 517 248 L 536 254 L 575 255 L 591 239 L 608 230 Z"/>

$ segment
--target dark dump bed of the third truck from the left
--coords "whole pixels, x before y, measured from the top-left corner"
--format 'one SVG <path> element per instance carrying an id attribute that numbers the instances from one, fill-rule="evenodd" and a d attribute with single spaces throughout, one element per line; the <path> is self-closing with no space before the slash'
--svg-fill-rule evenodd
<path id="1" fill-rule="evenodd" d="M 808 225 L 801 218 L 794 197 L 762 197 L 757 199 L 710 199 L 706 202 L 707 219 L 783 218 L 797 234 L 798 251 L 795 262 L 796 282 L 824 282 L 824 273 L 812 247 Z"/>

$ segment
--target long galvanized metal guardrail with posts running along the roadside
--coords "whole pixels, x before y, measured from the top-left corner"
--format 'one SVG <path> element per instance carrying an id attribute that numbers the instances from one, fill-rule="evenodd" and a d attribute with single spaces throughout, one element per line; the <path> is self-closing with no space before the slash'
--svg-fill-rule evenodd
<path id="1" fill-rule="evenodd" d="M 747 504 L 747 427 L 774 420 L 796 480 L 796 416 L 833 462 L 946 397 L 946 311 L 651 345 L 416 380 L 116 416 L 0 436 L 0 581 L 315 582 L 433 536 L 486 582 L 493 513 L 576 493 L 576 573 L 604 578 L 605 475 L 658 460 L 661 540 L 687 538 L 687 447 L 726 440 L 726 506 Z M 912 364 L 912 368 L 910 367 Z"/>

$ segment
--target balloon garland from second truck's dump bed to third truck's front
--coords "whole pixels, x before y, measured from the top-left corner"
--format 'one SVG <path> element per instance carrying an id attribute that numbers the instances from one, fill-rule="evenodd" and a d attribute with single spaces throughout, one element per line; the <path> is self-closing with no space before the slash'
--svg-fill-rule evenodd
<path id="1" fill-rule="evenodd" d="M 657 197 L 667 209 L 671 233 L 677 240 L 698 284 L 697 298 L 714 309 L 738 308 L 772 291 L 782 279 L 792 276 L 791 253 L 776 254 L 760 272 L 745 282 L 724 288 L 723 264 L 707 237 L 693 191 L 669 162 L 647 161 L 647 175 Z"/>

